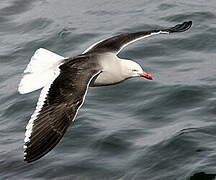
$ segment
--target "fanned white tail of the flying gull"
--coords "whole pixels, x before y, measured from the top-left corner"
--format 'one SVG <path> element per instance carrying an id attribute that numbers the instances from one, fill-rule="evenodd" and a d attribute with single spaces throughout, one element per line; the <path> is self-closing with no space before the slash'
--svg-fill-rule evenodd
<path id="1" fill-rule="evenodd" d="M 55 76 L 57 67 L 65 58 L 40 48 L 32 56 L 20 81 L 20 94 L 29 93 L 44 87 Z"/>

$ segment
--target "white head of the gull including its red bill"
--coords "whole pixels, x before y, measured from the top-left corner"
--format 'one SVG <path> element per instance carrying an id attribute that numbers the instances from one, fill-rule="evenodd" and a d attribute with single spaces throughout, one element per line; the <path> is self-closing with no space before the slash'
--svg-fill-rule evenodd
<path id="1" fill-rule="evenodd" d="M 126 78 L 144 77 L 146 79 L 153 80 L 152 75 L 143 71 L 142 67 L 136 62 L 131 60 L 122 60 L 121 64 L 122 64 L 122 74 Z"/>

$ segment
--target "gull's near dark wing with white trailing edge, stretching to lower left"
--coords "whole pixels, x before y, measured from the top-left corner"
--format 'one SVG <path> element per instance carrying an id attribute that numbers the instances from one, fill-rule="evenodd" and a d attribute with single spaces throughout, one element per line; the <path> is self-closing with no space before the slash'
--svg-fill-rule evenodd
<path id="1" fill-rule="evenodd" d="M 44 156 L 60 141 L 74 121 L 90 81 L 100 73 L 100 67 L 92 57 L 69 60 L 59 69 L 60 73 L 50 87 L 42 90 L 35 113 L 27 125 L 24 144 L 24 160 L 27 162 Z"/>

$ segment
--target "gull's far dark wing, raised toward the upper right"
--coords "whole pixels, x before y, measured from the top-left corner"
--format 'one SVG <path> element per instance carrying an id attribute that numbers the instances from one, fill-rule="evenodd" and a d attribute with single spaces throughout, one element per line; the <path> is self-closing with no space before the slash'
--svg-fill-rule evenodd
<path id="1" fill-rule="evenodd" d="M 182 24 L 177 24 L 174 27 L 166 28 L 166 29 L 158 29 L 158 30 L 150 30 L 150 31 L 140 31 L 134 33 L 124 33 L 120 34 L 103 41 L 99 41 L 98 43 L 93 44 L 88 49 L 86 49 L 83 53 L 90 52 L 113 52 L 118 53 L 123 47 L 126 45 L 145 38 L 154 34 L 161 33 L 175 33 L 175 32 L 184 32 L 188 30 L 192 25 L 192 21 L 187 21 Z"/>

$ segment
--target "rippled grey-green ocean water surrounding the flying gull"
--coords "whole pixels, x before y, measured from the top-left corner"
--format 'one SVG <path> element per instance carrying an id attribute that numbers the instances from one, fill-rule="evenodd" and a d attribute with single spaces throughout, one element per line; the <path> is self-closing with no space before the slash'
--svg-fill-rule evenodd
<path id="1" fill-rule="evenodd" d="M 2 0 L 0 179 L 213 180 L 216 174 L 216 2 L 213 0 Z M 61 142 L 23 161 L 25 126 L 40 91 L 17 86 L 40 47 L 75 56 L 122 32 L 193 21 L 184 33 L 127 46 L 141 78 L 90 88 Z"/>

